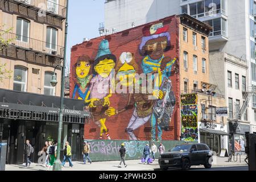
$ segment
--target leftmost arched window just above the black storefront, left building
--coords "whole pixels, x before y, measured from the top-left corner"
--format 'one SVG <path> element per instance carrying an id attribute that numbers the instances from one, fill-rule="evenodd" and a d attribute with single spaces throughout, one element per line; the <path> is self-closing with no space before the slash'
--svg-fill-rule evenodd
<path id="1" fill-rule="evenodd" d="M 20 92 L 27 91 L 27 68 L 20 66 L 14 67 L 13 90 Z"/>

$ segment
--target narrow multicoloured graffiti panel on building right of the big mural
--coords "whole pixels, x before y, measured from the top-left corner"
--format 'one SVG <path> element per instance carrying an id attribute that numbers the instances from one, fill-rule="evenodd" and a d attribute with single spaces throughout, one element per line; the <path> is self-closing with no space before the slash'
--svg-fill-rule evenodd
<path id="1" fill-rule="evenodd" d="M 181 140 L 198 140 L 197 94 L 181 96 Z"/>

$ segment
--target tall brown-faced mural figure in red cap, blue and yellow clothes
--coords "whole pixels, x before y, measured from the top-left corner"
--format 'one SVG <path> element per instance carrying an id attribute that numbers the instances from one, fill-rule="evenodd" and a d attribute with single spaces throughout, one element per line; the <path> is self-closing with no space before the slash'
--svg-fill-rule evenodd
<path id="1" fill-rule="evenodd" d="M 152 94 L 158 101 L 156 101 L 154 113 L 151 114 L 151 139 L 156 140 L 157 125 L 158 140 L 162 140 L 162 130 L 168 129 L 176 102 L 169 78 L 172 65 L 176 63 L 176 58 L 172 59 L 164 56 L 164 52 L 168 51 L 171 46 L 171 35 L 168 32 L 168 26 L 158 23 L 153 24 L 150 28 L 144 27 L 143 35 L 139 46 L 141 54 L 145 55 L 141 64 L 143 72 L 146 74 L 157 73 L 157 77 L 152 75 L 152 80 L 154 80 Z M 162 109 L 159 109 L 161 105 Z"/>

